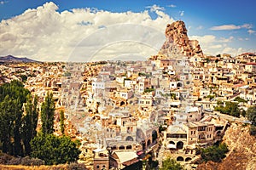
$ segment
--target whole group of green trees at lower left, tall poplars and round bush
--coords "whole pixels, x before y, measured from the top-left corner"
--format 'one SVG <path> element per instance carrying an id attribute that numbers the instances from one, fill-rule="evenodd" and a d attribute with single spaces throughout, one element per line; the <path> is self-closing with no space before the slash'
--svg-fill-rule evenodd
<path id="1" fill-rule="evenodd" d="M 61 137 L 54 133 L 55 103 L 48 93 L 41 105 L 42 127 L 38 126 L 38 97 L 18 81 L 0 86 L 0 149 L 12 156 L 32 156 L 45 164 L 69 163 L 79 158 L 79 143 L 65 136 L 61 111 Z"/>

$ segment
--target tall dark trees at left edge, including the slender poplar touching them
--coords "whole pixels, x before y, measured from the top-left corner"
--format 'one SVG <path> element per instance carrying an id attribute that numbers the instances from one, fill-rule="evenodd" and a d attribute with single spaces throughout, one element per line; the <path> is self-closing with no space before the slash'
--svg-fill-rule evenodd
<path id="1" fill-rule="evenodd" d="M 30 141 L 37 134 L 37 124 L 37 96 L 32 97 L 19 81 L 0 86 L 1 150 L 13 156 L 30 155 Z"/>

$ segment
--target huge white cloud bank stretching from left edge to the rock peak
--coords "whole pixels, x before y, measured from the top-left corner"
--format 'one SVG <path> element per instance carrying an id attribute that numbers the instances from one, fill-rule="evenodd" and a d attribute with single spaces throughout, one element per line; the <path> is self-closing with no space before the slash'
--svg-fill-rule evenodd
<path id="1" fill-rule="evenodd" d="M 55 3 L 45 3 L 0 22 L 0 56 L 13 54 L 55 61 L 65 61 L 70 56 L 85 59 L 91 56 L 113 59 L 121 54 L 149 57 L 153 52 L 156 54 L 166 40 L 166 25 L 173 21 L 161 11 L 163 8 L 154 5 L 153 8 L 156 19 L 152 19 L 147 10 L 112 13 L 75 8 L 60 13 Z"/>

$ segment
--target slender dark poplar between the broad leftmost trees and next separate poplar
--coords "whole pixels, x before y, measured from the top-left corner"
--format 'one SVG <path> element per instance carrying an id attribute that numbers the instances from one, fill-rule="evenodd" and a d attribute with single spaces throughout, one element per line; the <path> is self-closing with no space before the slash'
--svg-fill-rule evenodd
<path id="1" fill-rule="evenodd" d="M 25 148 L 25 155 L 31 153 L 30 141 L 37 135 L 38 125 L 38 96 L 32 98 L 32 95 L 27 96 L 25 105 L 26 114 L 22 117 L 22 140 Z"/>

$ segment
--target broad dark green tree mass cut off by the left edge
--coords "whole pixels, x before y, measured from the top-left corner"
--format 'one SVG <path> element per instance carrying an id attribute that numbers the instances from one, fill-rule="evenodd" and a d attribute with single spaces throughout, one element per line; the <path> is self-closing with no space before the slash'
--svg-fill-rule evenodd
<path id="1" fill-rule="evenodd" d="M 9 155 L 24 154 L 21 131 L 26 127 L 21 118 L 28 94 L 22 82 L 16 80 L 0 86 L 0 143 L 3 152 Z"/>

